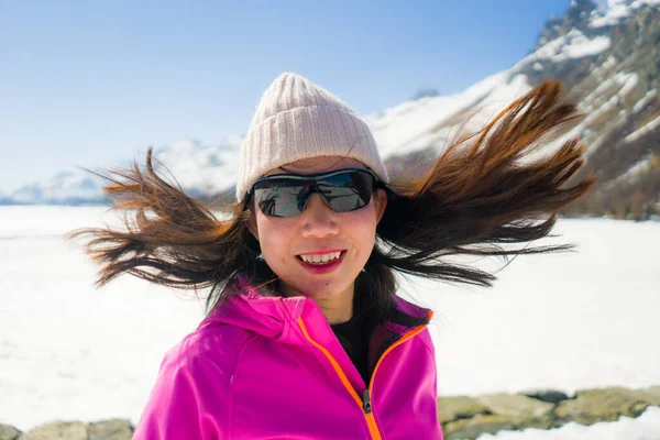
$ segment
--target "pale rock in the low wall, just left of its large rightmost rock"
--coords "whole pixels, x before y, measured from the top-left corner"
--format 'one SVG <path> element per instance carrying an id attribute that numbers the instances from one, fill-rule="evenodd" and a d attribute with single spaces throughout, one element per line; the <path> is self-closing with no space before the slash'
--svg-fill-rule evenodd
<path id="1" fill-rule="evenodd" d="M 479 400 L 488 413 L 506 417 L 516 428 L 548 429 L 553 426 L 553 404 L 519 394 L 491 394 Z"/>

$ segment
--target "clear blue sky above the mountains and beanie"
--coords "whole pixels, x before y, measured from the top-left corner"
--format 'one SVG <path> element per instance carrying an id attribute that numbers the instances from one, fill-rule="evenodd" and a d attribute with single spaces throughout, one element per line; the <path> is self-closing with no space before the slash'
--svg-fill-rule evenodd
<path id="1" fill-rule="evenodd" d="M 0 191 L 248 129 L 301 74 L 360 114 L 510 67 L 570 0 L 0 0 Z"/>

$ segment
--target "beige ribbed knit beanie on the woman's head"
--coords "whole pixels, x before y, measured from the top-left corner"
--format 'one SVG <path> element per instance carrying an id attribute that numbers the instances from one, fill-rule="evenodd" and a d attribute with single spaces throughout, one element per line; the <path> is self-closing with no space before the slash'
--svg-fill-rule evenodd
<path id="1" fill-rule="evenodd" d="M 306 78 L 282 74 L 264 92 L 241 145 L 237 199 L 270 169 L 317 156 L 354 158 L 387 182 L 374 136 L 353 110 Z"/>

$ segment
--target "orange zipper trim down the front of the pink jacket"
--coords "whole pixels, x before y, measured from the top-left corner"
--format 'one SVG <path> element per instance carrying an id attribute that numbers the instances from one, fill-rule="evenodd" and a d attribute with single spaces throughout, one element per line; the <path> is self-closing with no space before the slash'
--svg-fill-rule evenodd
<path id="1" fill-rule="evenodd" d="M 431 311 L 430 315 L 429 315 L 429 320 L 430 320 L 430 318 L 432 316 L 433 316 L 433 312 Z M 330 352 L 323 345 L 321 345 L 320 343 L 318 343 L 317 341 L 315 341 L 314 339 L 311 339 L 311 337 L 307 332 L 307 328 L 305 327 L 305 322 L 302 322 L 302 318 L 298 318 L 298 326 L 300 327 L 300 330 L 302 330 L 302 334 L 305 334 L 305 338 L 314 346 L 316 346 L 317 349 L 319 349 L 326 355 L 326 358 L 328 358 L 328 361 L 330 361 L 330 364 L 332 365 L 332 367 L 337 372 L 337 375 L 339 376 L 341 383 L 349 391 L 349 393 L 351 394 L 351 396 L 353 397 L 353 399 L 355 400 L 355 403 L 358 404 L 358 406 L 360 406 L 360 408 L 362 409 L 362 414 L 364 415 L 364 418 L 366 420 L 366 425 L 369 427 L 369 432 L 370 432 L 372 439 L 373 440 L 382 440 L 381 431 L 378 430 L 378 426 L 376 425 L 376 419 L 374 418 L 374 414 L 373 414 L 373 409 L 372 409 L 372 405 L 371 405 L 371 389 L 372 389 L 373 384 L 374 384 L 374 377 L 376 376 L 376 371 L 378 370 L 378 366 L 381 365 L 381 363 L 383 362 L 383 359 L 385 358 L 385 355 L 387 355 L 387 353 L 389 353 L 394 348 L 400 345 L 402 343 L 404 343 L 408 339 L 410 339 L 414 336 L 416 336 L 419 332 L 421 332 L 424 330 L 424 328 L 426 327 L 426 324 L 416 327 L 415 329 L 410 330 L 408 333 L 406 333 L 404 337 L 402 337 L 402 339 L 399 339 L 398 341 L 396 341 L 395 343 L 393 343 L 392 345 L 389 345 L 385 350 L 385 352 L 383 352 L 383 355 L 381 356 L 381 359 L 378 359 L 378 362 L 376 363 L 376 366 L 374 367 L 374 372 L 372 373 L 372 377 L 371 377 L 371 381 L 369 383 L 369 387 L 366 389 L 362 391 L 363 398 L 361 398 L 358 395 L 358 393 L 355 392 L 355 389 L 353 388 L 353 386 L 349 382 L 349 378 L 346 377 L 345 373 L 343 372 L 342 367 L 339 365 L 339 363 L 337 362 L 337 360 L 334 359 L 334 356 L 332 356 L 332 354 L 330 354 Z"/>

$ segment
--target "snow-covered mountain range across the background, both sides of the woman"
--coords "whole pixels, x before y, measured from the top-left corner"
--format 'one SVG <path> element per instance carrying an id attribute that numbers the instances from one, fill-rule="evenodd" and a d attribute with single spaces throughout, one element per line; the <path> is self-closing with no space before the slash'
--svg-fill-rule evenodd
<path id="1" fill-rule="evenodd" d="M 554 142 L 581 136 L 596 190 L 578 209 L 622 217 L 658 204 L 660 194 L 660 0 L 573 0 L 548 20 L 530 53 L 453 96 L 424 97 L 364 119 L 393 173 L 438 154 L 457 135 L 481 128 L 514 99 L 546 79 L 562 81 L 585 118 Z M 185 140 L 155 151 L 182 187 L 212 198 L 231 193 L 240 140 L 206 145 Z M 143 161 L 139 161 L 143 162 Z M 102 200 L 103 183 L 64 173 L 21 188 L 12 202 Z M 1 204 L 0 196 L 0 204 Z"/>

